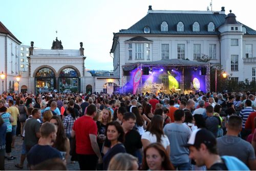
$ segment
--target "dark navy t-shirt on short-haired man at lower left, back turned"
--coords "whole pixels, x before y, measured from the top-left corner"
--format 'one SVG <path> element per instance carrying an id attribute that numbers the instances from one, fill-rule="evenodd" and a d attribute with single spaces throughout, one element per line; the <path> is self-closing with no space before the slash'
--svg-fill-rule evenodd
<path id="1" fill-rule="evenodd" d="M 62 159 L 62 156 L 57 149 L 51 147 L 50 145 L 36 144 L 30 149 L 29 153 L 27 154 L 27 160 L 29 165 L 36 165 L 43 161 L 54 158 Z"/>

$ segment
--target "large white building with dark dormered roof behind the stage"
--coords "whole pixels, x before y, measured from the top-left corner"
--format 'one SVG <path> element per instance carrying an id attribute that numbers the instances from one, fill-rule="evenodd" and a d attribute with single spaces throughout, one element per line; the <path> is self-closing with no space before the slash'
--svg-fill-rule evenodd
<path id="1" fill-rule="evenodd" d="M 202 55 L 236 81 L 255 80 L 256 31 L 221 11 L 164 11 L 149 6 L 145 17 L 114 33 L 114 76 L 124 86 L 122 66 L 139 61 L 189 59 Z"/>

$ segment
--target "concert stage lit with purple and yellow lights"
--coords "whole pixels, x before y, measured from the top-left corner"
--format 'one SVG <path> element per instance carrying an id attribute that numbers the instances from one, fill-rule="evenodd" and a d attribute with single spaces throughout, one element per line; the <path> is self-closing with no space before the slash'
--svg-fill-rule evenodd
<path id="1" fill-rule="evenodd" d="M 210 91 L 210 63 L 183 59 L 136 62 L 122 66 L 123 93 Z"/>

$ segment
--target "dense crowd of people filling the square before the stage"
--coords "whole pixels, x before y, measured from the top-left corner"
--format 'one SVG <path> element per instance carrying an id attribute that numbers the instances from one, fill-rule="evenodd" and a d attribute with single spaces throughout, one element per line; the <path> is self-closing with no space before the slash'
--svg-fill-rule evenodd
<path id="1" fill-rule="evenodd" d="M 256 170 L 255 153 L 250 92 L 0 95 L 0 170 Z"/>

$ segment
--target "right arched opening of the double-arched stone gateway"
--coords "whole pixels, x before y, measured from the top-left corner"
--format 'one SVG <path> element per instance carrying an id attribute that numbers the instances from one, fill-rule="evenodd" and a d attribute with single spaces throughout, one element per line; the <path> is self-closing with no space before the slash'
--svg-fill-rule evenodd
<path id="1" fill-rule="evenodd" d="M 71 90 L 71 92 L 79 91 L 80 79 L 78 73 L 72 68 L 65 68 L 59 73 L 59 91 Z"/>

